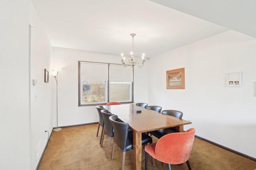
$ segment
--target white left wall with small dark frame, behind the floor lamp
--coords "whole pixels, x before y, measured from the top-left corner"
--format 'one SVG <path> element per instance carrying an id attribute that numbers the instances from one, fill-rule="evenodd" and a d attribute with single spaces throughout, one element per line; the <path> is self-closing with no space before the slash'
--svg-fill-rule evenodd
<path id="1" fill-rule="evenodd" d="M 31 25 L 31 143 L 30 160 L 31 169 L 35 169 L 46 147 L 53 124 L 53 84 L 55 79 L 51 75 L 52 46 L 38 18 L 34 6 L 30 2 L 29 23 Z M 49 82 L 44 82 L 44 69 L 49 71 Z M 32 85 L 32 80 L 37 80 L 37 85 Z M 38 96 L 35 100 L 35 96 Z M 45 132 L 48 131 L 48 132 Z M 38 151 L 36 151 L 38 149 Z M 37 156 L 38 155 L 38 156 Z"/>

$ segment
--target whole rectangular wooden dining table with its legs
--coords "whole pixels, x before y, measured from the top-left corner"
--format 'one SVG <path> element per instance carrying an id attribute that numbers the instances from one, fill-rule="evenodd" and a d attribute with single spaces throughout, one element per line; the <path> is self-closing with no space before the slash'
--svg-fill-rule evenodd
<path id="1" fill-rule="evenodd" d="M 133 131 L 134 170 L 141 170 L 141 134 L 143 132 L 169 127 L 176 127 L 177 132 L 183 132 L 183 125 L 191 124 L 190 121 L 178 119 L 154 110 L 136 106 L 135 104 L 111 105 L 104 106 L 104 108 L 108 109 L 110 113 L 118 115 L 118 118 L 128 123 Z M 141 110 L 141 113 L 135 113 L 134 110 Z"/>

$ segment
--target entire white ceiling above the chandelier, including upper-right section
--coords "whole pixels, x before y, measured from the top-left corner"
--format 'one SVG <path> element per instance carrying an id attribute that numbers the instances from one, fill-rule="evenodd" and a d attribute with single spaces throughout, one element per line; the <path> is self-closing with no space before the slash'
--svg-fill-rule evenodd
<path id="1" fill-rule="evenodd" d="M 253 0 L 31 1 L 53 47 L 129 55 L 136 33 L 135 55 L 150 58 L 230 29 L 256 37 Z"/>

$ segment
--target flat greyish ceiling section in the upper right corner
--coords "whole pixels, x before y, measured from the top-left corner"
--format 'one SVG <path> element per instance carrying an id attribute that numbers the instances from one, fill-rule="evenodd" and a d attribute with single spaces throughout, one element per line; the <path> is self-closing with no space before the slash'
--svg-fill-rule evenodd
<path id="1" fill-rule="evenodd" d="M 255 0 L 151 0 L 256 38 Z"/>

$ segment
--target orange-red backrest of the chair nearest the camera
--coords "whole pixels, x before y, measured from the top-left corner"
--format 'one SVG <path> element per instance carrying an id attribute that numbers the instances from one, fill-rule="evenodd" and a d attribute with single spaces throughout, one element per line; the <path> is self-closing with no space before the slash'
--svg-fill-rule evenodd
<path id="1" fill-rule="evenodd" d="M 192 150 L 196 130 L 170 133 L 161 137 L 155 148 L 156 159 L 168 164 L 182 164 L 186 162 Z"/>

